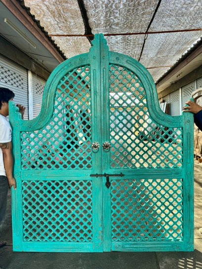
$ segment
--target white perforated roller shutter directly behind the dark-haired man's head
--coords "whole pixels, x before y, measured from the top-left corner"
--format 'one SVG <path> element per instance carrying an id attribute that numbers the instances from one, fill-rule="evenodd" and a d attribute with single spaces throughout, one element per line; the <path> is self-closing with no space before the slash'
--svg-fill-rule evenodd
<path id="1" fill-rule="evenodd" d="M 26 107 L 24 119 L 28 119 L 27 69 L 0 55 L 0 86 L 14 92 L 14 102 Z"/>

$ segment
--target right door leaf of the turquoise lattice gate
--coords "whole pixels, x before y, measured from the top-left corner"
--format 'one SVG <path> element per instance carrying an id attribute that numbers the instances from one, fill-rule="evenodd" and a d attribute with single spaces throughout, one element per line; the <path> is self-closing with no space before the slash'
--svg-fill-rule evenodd
<path id="1" fill-rule="evenodd" d="M 147 70 L 100 51 L 103 249 L 191 251 L 193 115 L 162 113 Z"/>

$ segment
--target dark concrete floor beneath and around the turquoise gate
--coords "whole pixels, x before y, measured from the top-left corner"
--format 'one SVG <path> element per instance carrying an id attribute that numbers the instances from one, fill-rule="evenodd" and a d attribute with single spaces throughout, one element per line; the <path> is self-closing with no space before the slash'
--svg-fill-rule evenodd
<path id="1" fill-rule="evenodd" d="M 10 192 L 0 238 L 0 269 L 202 269 L 202 163 L 195 160 L 194 252 L 43 253 L 13 252 Z"/>

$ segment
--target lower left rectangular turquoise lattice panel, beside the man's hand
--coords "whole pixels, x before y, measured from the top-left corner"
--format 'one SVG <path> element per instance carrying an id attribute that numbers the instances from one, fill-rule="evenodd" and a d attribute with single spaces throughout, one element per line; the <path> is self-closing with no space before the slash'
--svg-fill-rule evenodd
<path id="1" fill-rule="evenodd" d="M 24 241 L 92 241 L 91 181 L 24 181 Z"/>

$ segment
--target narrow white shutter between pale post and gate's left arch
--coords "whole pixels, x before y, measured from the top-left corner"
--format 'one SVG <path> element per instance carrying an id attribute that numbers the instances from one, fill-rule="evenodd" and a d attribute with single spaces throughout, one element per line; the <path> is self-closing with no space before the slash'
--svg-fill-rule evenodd
<path id="1" fill-rule="evenodd" d="M 46 81 L 33 74 L 32 76 L 32 87 L 33 87 L 33 117 L 35 118 L 40 114 L 43 89 Z"/>

